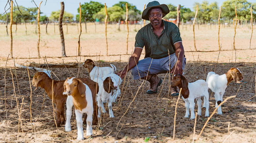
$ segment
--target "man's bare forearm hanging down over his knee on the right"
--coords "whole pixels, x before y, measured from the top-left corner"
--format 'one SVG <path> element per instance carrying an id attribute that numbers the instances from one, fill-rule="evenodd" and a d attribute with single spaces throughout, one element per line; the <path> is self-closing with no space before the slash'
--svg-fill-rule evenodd
<path id="1" fill-rule="evenodd" d="M 172 73 L 174 74 L 181 74 L 182 75 L 182 63 L 183 63 L 183 57 L 184 57 L 184 48 L 182 45 L 182 42 L 177 42 L 174 44 L 176 51 L 175 54 L 178 57 L 177 62 L 176 62 L 176 69 L 175 66 L 172 68 Z M 174 71 L 175 69 L 175 71 Z"/>

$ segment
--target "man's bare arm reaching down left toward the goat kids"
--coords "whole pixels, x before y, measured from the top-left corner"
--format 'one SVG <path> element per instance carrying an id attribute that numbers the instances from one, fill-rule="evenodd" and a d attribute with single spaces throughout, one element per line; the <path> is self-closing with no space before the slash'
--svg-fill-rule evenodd
<path id="1" fill-rule="evenodd" d="M 128 71 L 130 71 L 133 67 L 136 66 L 136 64 L 138 63 L 138 61 L 141 57 L 142 50 L 143 50 L 142 48 L 135 47 L 134 52 L 133 52 L 132 56 L 130 57 L 128 64 L 124 67 L 123 70 L 121 70 L 120 72 L 117 73 L 117 75 L 120 76 L 121 79 L 123 79 L 125 77 L 125 75 L 127 74 Z"/>

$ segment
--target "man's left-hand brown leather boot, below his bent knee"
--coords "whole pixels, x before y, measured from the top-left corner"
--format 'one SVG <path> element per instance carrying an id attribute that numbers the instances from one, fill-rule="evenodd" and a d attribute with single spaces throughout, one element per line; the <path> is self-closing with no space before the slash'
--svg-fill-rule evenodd
<path id="1" fill-rule="evenodd" d="M 162 80 L 157 75 L 150 75 L 150 78 L 147 79 L 150 83 L 149 90 L 147 90 L 147 94 L 155 94 L 157 93 L 157 88 L 161 85 Z"/>

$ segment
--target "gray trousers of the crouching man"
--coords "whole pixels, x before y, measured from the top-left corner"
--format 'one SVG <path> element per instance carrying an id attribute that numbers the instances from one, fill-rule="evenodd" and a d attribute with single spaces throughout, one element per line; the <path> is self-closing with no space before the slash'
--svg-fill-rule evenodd
<path id="1" fill-rule="evenodd" d="M 152 63 L 151 63 L 152 61 Z M 161 73 L 167 73 L 175 66 L 177 61 L 176 54 L 172 54 L 170 56 L 167 56 L 162 59 L 151 59 L 151 58 L 145 58 L 143 60 L 139 60 L 137 66 L 133 67 L 131 69 L 133 79 L 138 80 L 142 77 L 146 77 L 148 74 L 161 74 Z M 151 65 L 150 65 L 151 63 Z M 184 70 L 186 65 L 186 58 L 183 58 L 182 63 L 182 69 Z M 150 66 L 150 68 L 149 68 Z M 149 68 L 149 69 L 148 69 Z"/>

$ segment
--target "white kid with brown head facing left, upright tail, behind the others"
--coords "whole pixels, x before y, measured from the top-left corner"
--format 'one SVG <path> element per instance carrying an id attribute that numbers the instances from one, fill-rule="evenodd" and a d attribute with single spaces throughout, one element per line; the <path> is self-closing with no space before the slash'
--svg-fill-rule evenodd
<path id="1" fill-rule="evenodd" d="M 115 73 L 116 67 L 113 64 L 110 64 L 111 67 L 98 67 L 94 64 L 93 60 L 87 59 L 83 63 L 83 67 L 88 69 L 90 73 L 91 80 L 96 79 L 97 77 L 103 78 L 107 74 Z"/>

